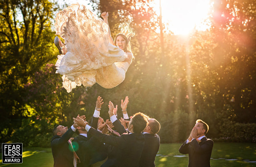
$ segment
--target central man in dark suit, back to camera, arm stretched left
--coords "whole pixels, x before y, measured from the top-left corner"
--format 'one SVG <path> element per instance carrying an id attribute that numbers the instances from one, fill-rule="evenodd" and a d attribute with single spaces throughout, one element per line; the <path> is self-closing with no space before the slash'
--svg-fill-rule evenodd
<path id="1" fill-rule="evenodd" d="M 113 113 L 114 105 L 112 102 L 109 102 L 109 116 L 112 122 L 112 119 L 116 119 L 116 116 Z M 116 154 L 116 160 L 111 162 L 112 166 L 117 167 L 125 167 L 125 166 L 139 166 L 139 160 L 141 156 L 141 152 L 144 147 L 145 137 L 141 133 L 148 124 L 147 116 L 142 113 L 136 113 L 132 118 L 128 125 L 128 129 L 130 134 L 122 134 L 120 137 L 115 137 L 112 135 L 105 135 L 92 128 L 81 118 L 73 118 L 74 122 L 79 126 L 85 126 L 85 129 L 88 131 L 88 135 L 92 135 L 100 140 L 100 142 L 104 142 L 110 144 L 120 151 L 119 154 Z M 105 163 L 108 163 L 106 161 Z M 109 166 L 107 164 L 103 164 Z M 113 164 L 114 163 L 114 164 Z"/>

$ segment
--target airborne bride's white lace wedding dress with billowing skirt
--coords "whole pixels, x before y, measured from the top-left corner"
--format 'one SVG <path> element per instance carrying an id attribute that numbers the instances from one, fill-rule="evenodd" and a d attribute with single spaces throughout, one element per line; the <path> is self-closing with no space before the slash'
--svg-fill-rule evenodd
<path id="1" fill-rule="evenodd" d="M 108 43 L 108 25 L 84 5 L 72 4 L 57 13 L 55 31 L 65 39 L 68 52 L 55 64 L 62 85 L 71 92 L 76 86 L 96 82 L 112 88 L 123 82 L 129 63 L 123 50 Z"/>

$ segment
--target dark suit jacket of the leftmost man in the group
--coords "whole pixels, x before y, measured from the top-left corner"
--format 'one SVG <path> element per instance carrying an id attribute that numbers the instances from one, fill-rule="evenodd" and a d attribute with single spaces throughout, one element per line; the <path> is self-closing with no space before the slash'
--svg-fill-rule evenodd
<path id="1" fill-rule="evenodd" d="M 52 156 L 54 167 L 73 167 L 73 152 L 69 149 L 68 140 L 75 132 L 71 128 L 63 134 L 62 137 L 55 135 L 52 137 L 51 146 L 52 146 Z"/>

